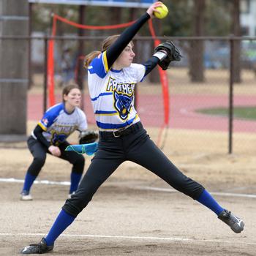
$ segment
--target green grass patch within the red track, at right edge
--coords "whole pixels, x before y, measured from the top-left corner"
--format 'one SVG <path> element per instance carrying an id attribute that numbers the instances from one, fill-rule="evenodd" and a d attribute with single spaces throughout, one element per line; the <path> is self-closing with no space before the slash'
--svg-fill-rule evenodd
<path id="1" fill-rule="evenodd" d="M 205 108 L 196 110 L 196 112 L 214 116 L 228 116 L 228 108 Z M 246 120 L 256 120 L 256 106 L 233 108 L 233 117 Z"/>

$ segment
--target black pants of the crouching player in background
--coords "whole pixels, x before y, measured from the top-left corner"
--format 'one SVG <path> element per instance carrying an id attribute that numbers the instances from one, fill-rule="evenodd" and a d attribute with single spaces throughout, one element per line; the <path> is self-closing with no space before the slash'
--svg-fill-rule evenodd
<path id="1" fill-rule="evenodd" d="M 43 165 L 45 165 L 46 154 L 50 154 L 48 148 L 46 148 L 38 140 L 34 139 L 32 136 L 28 138 L 29 151 L 33 155 L 34 159 L 31 165 L 29 166 L 28 173 L 32 176 L 38 176 Z M 77 154 L 74 151 L 65 151 L 65 148 L 70 144 L 67 141 L 59 145 L 61 151 L 61 159 L 67 160 L 72 166 L 72 172 L 74 173 L 83 173 L 83 168 L 85 164 L 85 159 L 83 155 Z"/>

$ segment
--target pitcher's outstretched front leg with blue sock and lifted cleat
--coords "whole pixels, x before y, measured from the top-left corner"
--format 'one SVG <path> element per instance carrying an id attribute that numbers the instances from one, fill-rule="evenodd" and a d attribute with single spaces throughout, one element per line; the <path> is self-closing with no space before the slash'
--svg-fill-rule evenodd
<path id="1" fill-rule="evenodd" d="M 244 222 L 240 218 L 235 217 L 230 211 L 219 206 L 219 203 L 202 185 L 181 173 L 149 138 L 143 140 L 140 146 L 129 151 L 129 160 L 146 167 L 173 188 L 210 208 L 233 232 L 241 233 L 244 230 Z"/>

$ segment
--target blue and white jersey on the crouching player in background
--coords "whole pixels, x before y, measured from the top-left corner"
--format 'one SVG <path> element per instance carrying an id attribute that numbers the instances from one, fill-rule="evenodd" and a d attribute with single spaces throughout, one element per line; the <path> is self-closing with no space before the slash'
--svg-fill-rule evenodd
<path id="1" fill-rule="evenodd" d="M 55 146 L 66 140 L 75 130 L 84 131 L 88 127 L 86 114 L 80 108 L 67 113 L 64 103 L 49 108 L 38 124 L 44 130 L 42 135 L 45 139 Z M 33 132 L 32 136 L 36 139 Z"/>

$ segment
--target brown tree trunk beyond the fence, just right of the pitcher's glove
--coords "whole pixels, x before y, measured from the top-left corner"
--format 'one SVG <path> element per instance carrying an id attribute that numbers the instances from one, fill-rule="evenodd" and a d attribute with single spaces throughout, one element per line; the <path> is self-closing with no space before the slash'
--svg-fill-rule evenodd
<path id="1" fill-rule="evenodd" d="M 194 0 L 195 17 L 193 36 L 203 36 L 204 12 L 206 9 L 205 0 Z M 204 42 L 194 40 L 190 42 L 189 48 L 189 75 L 192 82 L 204 81 L 203 65 Z"/>

